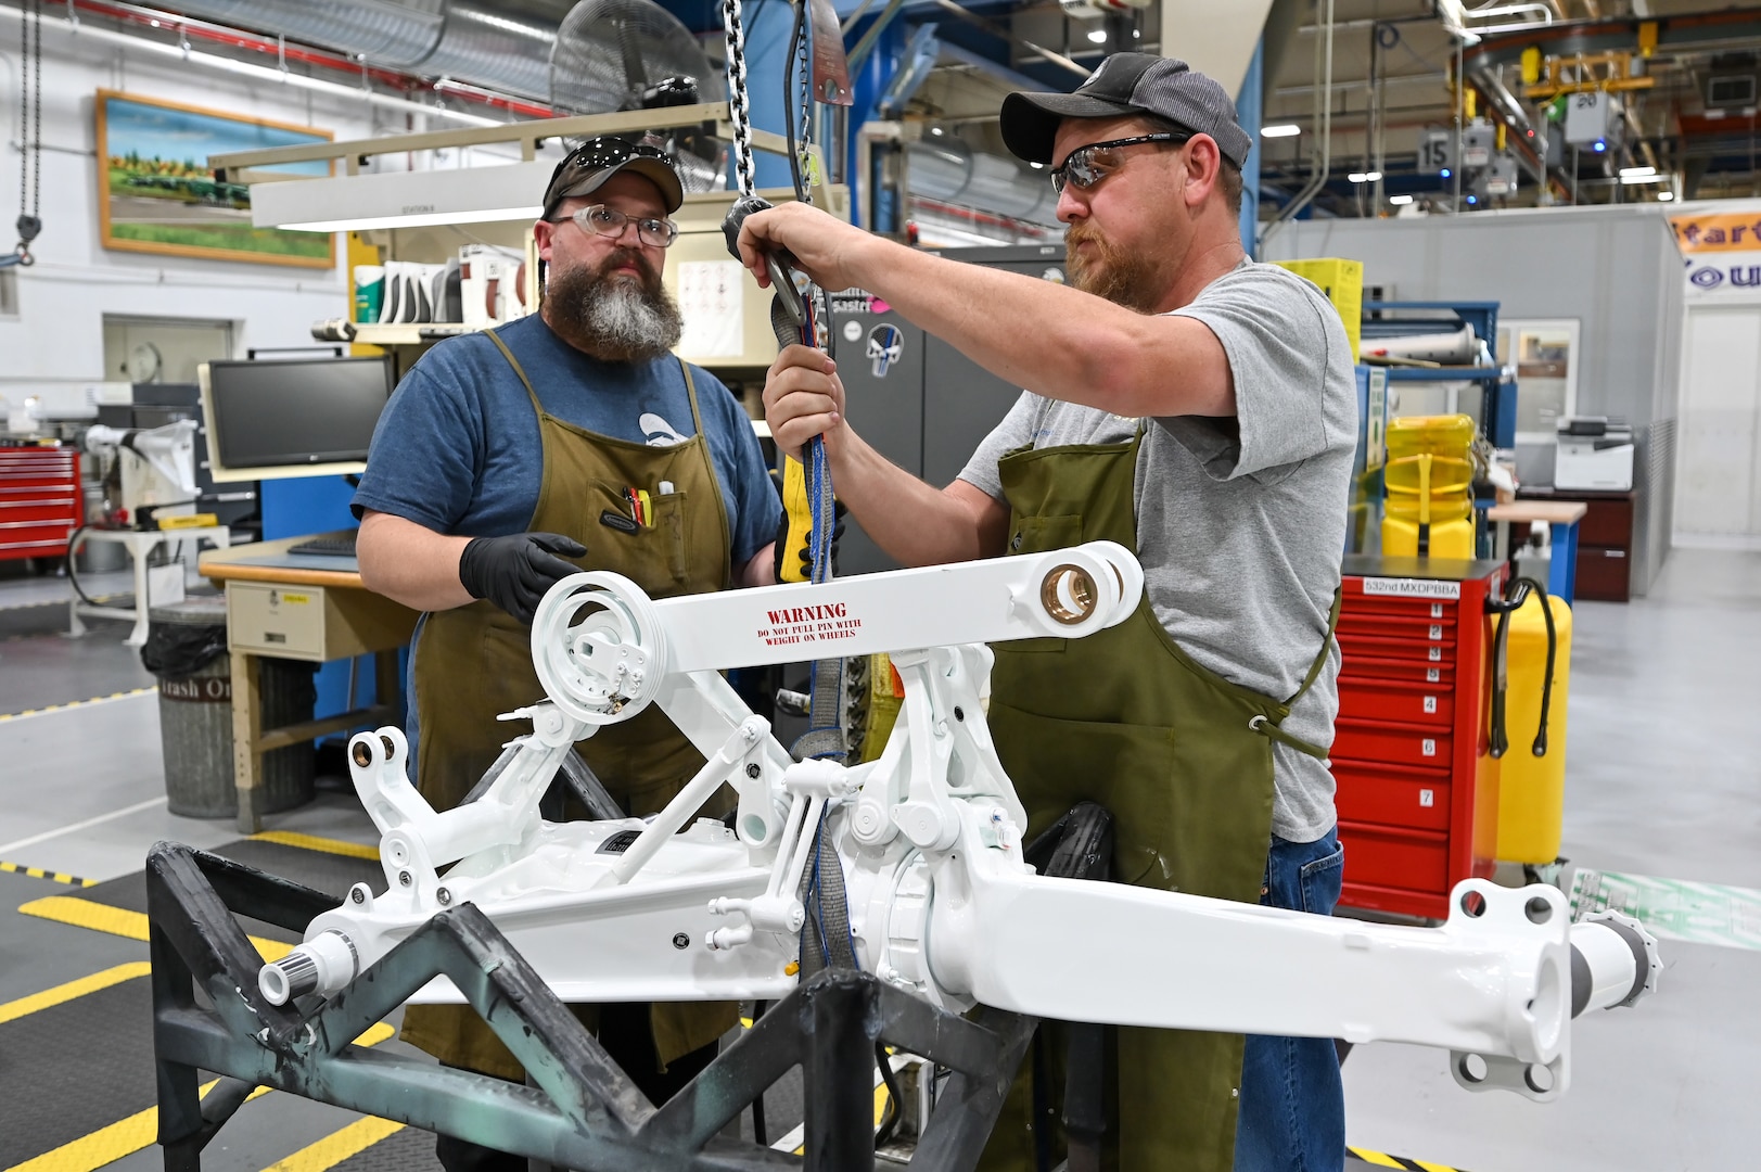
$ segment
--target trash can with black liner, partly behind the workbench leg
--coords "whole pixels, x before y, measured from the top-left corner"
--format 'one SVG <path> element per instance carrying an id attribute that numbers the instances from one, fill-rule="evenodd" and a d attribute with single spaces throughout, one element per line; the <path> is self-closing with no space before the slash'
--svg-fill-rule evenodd
<path id="1" fill-rule="evenodd" d="M 232 781 L 232 659 L 225 649 L 225 599 L 192 597 L 148 610 L 141 663 L 158 679 L 158 738 L 166 756 L 166 805 L 183 818 L 236 818 Z M 312 719 L 313 664 L 259 659 L 262 726 Z M 264 812 L 305 805 L 313 795 L 310 744 L 262 754 Z"/>

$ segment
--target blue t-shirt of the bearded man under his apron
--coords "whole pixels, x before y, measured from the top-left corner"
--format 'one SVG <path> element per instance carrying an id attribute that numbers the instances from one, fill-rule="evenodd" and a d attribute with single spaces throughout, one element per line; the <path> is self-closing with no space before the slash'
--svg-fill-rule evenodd
<path id="1" fill-rule="evenodd" d="M 558 419 L 655 446 L 692 437 L 676 358 L 599 361 L 551 333 L 537 314 L 498 333 L 544 411 Z M 740 400 L 710 372 L 692 367 L 690 374 L 738 571 L 775 541 L 782 502 Z M 447 338 L 423 354 L 386 404 L 354 513 L 393 513 L 468 538 L 525 532 L 539 504 L 541 451 L 532 400 L 495 344 L 483 335 Z"/>

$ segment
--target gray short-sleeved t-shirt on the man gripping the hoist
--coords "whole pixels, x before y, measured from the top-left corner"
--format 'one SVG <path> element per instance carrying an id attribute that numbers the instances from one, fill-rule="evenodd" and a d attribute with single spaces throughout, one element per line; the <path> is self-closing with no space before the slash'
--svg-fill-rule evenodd
<path id="1" fill-rule="evenodd" d="M 1236 416 L 1146 421 L 1138 449 L 1138 559 L 1155 617 L 1199 664 L 1286 700 L 1321 650 L 1345 548 L 1358 442 L 1351 344 L 1310 282 L 1243 261 L 1175 315 L 1205 323 L 1234 375 Z M 1178 374 L 1171 372 L 1171 377 Z M 1127 419 L 1023 391 L 960 479 L 1004 499 L 1007 451 L 1113 444 Z M 1284 730 L 1333 744 L 1338 647 Z M 1312 842 L 1333 823 L 1324 761 L 1273 744 L 1271 832 Z"/>

